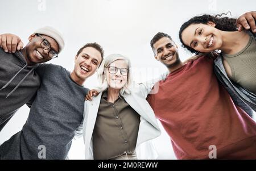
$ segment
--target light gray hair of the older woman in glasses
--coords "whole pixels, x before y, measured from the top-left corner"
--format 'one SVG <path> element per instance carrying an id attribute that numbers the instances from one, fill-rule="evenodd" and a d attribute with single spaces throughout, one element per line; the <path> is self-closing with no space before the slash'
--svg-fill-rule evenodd
<path id="1" fill-rule="evenodd" d="M 97 70 L 98 80 L 100 81 L 100 84 L 101 84 L 101 86 L 98 87 L 98 89 L 100 91 L 104 91 L 108 88 L 108 82 L 105 80 L 104 70 L 105 70 L 105 68 L 108 68 L 110 66 L 110 64 L 112 64 L 116 60 L 125 60 L 127 62 L 128 69 L 129 69 L 129 72 L 127 75 L 127 82 L 119 92 L 119 96 L 121 95 L 122 97 L 125 97 L 126 95 L 129 95 L 131 93 L 129 90 L 129 87 L 130 87 L 131 81 L 132 81 L 131 61 L 128 57 L 120 55 L 120 54 L 109 55 L 102 61 L 100 67 Z"/>

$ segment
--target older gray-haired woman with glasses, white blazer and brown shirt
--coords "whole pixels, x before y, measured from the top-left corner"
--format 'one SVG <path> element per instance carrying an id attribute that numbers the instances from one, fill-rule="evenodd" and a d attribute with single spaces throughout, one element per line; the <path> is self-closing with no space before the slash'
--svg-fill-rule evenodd
<path id="1" fill-rule="evenodd" d="M 160 128 L 146 101 L 157 80 L 148 87 L 143 84 L 132 87 L 130 69 L 130 60 L 123 55 L 109 55 L 102 61 L 98 69 L 100 93 L 85 102 L 85 159 L 156 159 L 158 156 L 151 141 L 160 135 Z M 89 96 L 86 97 L 90 99 Z"/>

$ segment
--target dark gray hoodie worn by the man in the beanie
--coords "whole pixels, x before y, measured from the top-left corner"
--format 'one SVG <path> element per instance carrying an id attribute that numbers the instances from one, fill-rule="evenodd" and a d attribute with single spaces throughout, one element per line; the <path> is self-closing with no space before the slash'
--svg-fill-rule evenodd
<path id="1" fill-rule="evenodd" d="M 0 131 L 21 106 L 31 105 L 40 86 L 37 66 L 27 66 L 20 51 L 6 53 L 0 48 Z"/>

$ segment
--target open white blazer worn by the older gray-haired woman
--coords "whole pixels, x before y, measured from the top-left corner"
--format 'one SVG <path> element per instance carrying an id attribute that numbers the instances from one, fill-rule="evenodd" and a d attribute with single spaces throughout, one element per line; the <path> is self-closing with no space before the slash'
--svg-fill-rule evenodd
<path id="1" fill-rule="evenodd" d="M 139 131 L 135 152 L 137 159 L 156 159 L 158 153 L 155 150 L 152 140 L 160 136 L 160 128 L 155 118 L 154 111 L 146 101 L 148 93 L 150 93 L 155 82 L 166 78 L 166 74 L 156 80 L 148 81 L 146 84 L 137 84 L 131 90 L 131 94 L 124 97 L 125 101 L 141 115 Z M 82 125 L 82 135 L 85 144 L 85 159 L 93 159 L 93 141 L 92 134 L 97 118 L 98 108 L 100 106 L 102 93 L 97 97 L 93 97 L 92 101 L 86 101 L 84 107 L 84 123 Z"/>

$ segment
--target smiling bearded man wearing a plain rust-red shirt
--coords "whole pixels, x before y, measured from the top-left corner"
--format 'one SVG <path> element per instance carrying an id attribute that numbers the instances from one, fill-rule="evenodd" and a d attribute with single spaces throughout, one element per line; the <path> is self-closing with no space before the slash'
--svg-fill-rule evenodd
<path id="1" fill-rule="evenodd" d="M 170 74 L 147 100 L 170 136 L 177 159 L 256 159 L 256 123 L 218 83 L 213 57 L 183 64 L 177 45 L 160 32 L 151 47 Z"/>

